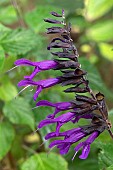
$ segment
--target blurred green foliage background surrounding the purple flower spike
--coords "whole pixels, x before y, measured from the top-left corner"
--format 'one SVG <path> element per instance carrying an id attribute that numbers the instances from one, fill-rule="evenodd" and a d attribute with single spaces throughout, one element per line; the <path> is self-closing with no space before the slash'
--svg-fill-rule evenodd
<path id="1" fill-rule="evenodd" d="M 30 88 L 17 96 L 17 83 L 32 68 L 19 67 L 5 73 L 22 57 L 32 61 L 52 59 L 46 50 L 52 37 L 45 34 L 48 24 L 43 19 L 62 8 L 67 22 L 72 24 L 71 36 L 82 68 L 88 72 L 90 86 L 94 92 L 104 93 L 113 122 L 113 0 L 0 0 L 0 170 L 113 170 L 113 140 L 108 132 L 92 144 L 87 160 L 80 160 L 78 153 L 72 162 L 76 144 L 66 156 L 57 149 L 47 156 L 49 142 L 41 143 L 55 126 L 34 135 L 33 131 L 53 110 L 32 110 L 34 90 Z M 39 74 L 37 80 L 58 75 L 57 71 L 47 71 Z M 74 98 L 70 94 L 64 96 L 62 91 L 60 86 L 44 90 L 38 100 L 59 102 Z M 81 123 L 87 122 L 80 121 L 78 125 Z M 70 128 L 71 123 L 63 127 Z"/>

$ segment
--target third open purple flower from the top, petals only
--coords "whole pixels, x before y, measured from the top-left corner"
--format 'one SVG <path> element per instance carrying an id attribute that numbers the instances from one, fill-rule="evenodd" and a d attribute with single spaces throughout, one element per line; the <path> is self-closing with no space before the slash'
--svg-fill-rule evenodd
<path id="1" fill-rule="evenodd" d="M 57 113 L 59 113 L 60 111 L 64 111 L 64 110 L 69 110 L 72 108 L 72 104 L 70 102 L 58 102 L 58 103 L 51 103 L 47 100 L 41 100 L 36 104 L 37 107 L 39 106 L 51 106 L 51 107 L 55 107 L 55 111 L 53 114 L 48 115 L 48 118 L 53 119 L 55 117 L 55 115 Z"/>

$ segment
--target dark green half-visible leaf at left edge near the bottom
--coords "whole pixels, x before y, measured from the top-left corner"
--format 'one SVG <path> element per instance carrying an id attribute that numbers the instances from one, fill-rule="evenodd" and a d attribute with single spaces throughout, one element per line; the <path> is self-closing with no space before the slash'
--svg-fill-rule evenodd
<path id="1" fill-rule="evenodd" d="M 15 133 L 12 125 L 8 122 L 0 123 L 0 160 L 7 154 L 12 146 Z"/>

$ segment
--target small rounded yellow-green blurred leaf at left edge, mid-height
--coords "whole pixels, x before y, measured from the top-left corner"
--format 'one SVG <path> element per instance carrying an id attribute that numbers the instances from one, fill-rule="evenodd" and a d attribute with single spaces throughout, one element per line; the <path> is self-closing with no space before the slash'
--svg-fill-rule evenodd
<path id="1" fill-rule="evenodd" d="M 17 95 L 16 87 L 9 81 L 2 81 L 0 84 L 0 99 L 10 101 Z"/>

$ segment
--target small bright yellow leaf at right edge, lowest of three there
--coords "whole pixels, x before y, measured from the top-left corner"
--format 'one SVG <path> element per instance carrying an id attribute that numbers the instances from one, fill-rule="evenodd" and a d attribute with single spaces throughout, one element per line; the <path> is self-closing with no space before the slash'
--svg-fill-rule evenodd
<path id="1" fill-rule="evenodd" d="M 113 51 L 112 45 L 106 44 L 106 43 L 100 43 L 99 44 L 100 52 L 103 55 L 103 57 L 107 58 L 108 60 L 113 61 Z"/>

